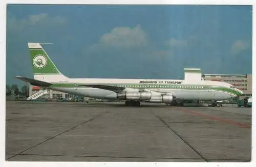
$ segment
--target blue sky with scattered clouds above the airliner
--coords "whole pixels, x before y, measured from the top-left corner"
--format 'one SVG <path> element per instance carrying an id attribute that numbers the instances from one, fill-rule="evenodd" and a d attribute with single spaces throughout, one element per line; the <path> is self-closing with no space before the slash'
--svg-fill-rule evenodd
<path id="1" fill-rule="evenodd" d="M 6 84 L 33 77 L 27 42 L 73 78 L 184 78 L 252 73 L 252 7 L 8 5 Z"/>

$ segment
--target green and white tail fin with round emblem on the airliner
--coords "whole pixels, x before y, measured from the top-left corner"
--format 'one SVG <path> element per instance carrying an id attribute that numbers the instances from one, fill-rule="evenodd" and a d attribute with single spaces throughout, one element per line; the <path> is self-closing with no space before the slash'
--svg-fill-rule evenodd
<path id="1" fill-rule="evenodd" d="M 68 79 L 61 74 L 40 44 L 42 43 L 28 43 L 34 79 L 49 82 Z"/>

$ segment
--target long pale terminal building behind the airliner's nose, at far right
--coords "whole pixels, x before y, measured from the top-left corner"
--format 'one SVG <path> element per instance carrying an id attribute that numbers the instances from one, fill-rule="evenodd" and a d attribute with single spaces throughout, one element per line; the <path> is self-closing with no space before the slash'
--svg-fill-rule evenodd
<path id="1" fill-rule="evenodd" d="M 252 75 L 251 74 L 202 74 L 204 80 L 223 81 L 233 85 L 244 92 L 240 98 L 252 96 Z"/>

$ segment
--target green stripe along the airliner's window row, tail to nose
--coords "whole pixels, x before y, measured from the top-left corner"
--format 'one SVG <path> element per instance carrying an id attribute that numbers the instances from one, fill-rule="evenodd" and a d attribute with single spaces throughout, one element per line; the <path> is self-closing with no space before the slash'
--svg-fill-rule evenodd
<path id="1" fill-rule="evenodd" d="M 78 83 L 63 83 L 63 84 L 54 84 L 50 86 L 50 88 L 74 88 L 74 84 L 79 85 Z M 82 84 L 82 83 L 81 83 Z M 149 88 L 149 89 L 180 89 L 180 90 L 215 90 L 221 92 L 232 93 L 234 95 L 240 95 L 240 92 L 236 90 L 232 90 L 225 87 L 214 87 L 210 88 L 208 85 L 154 85 L 154 84 L 101 84 L 107 86 L 114 86 L 114 87 L 125 87 L 125 88 Z M 141 86 L 141 87 L 139 87 Z M 143 87 L 144 86 L 144 87 Z M 180 88 L 181 87 L 181 88 Z M 183 87 L 183 88 L 182 88 Z M 76 88 L 84 88 L 84 86 L 76 86 Z"/>

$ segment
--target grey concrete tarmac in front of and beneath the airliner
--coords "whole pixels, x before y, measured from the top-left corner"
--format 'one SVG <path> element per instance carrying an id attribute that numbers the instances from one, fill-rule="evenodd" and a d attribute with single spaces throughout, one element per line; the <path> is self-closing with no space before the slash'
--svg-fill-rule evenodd
<path id="1" fill-rule="evenodd" d="M 249 162 L 251 110 L 7 101 L 6 160 Z"/>

